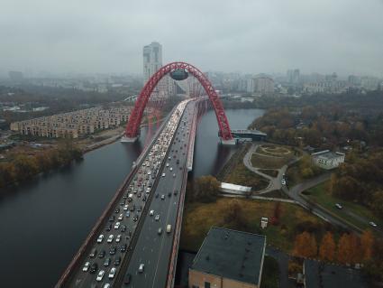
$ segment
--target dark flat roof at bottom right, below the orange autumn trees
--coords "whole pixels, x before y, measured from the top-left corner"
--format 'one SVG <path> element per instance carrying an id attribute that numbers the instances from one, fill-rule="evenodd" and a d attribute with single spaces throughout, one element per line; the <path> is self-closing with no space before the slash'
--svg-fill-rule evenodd
<path id="1" fill-rule="evenodd" d="M 367 288 L 360 271 L 339 265 L 305 260 L 306 288 Z"/>

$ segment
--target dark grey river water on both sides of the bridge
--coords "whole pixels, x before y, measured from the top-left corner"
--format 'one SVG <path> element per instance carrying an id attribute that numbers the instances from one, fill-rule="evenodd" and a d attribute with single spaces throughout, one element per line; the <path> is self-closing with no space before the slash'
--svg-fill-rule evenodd
<path id="1" fill-rule="evenodd" d="M 232 129 L 246 128 L 260 109 L 226 110 Z M 53 287 L 138 157 L 135 144 L 116 142 L 84 161 L 0 191 L 0 287 Z M 235 151 L 218 144 L 214 111 L 197 127 L 191 179 L 215 174 Z"/>

